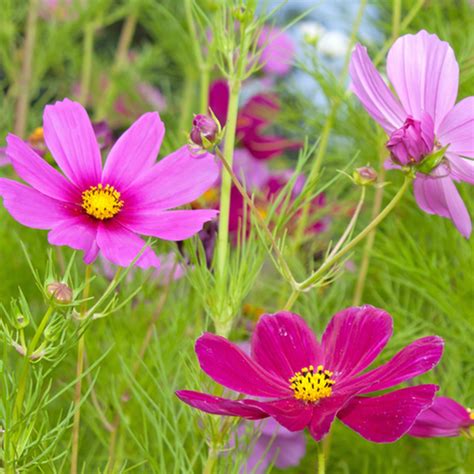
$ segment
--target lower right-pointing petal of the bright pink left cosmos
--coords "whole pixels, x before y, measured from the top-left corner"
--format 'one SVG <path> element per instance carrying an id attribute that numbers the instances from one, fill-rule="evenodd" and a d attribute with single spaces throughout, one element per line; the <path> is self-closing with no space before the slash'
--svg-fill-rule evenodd
<path id="1" fill-rule="evenodd" d="M 133 211 L 120 222 L 137 234 L 158 237 L 164 240 L 186 240 L 199 232 L 204 223 L 214 219 L 214 209 L 179 211 Z"/>

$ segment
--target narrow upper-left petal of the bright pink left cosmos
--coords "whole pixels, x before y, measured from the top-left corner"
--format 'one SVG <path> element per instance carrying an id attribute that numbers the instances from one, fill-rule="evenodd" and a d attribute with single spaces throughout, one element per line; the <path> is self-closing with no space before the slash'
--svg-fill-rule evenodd
<path id="1" fill-rule="evenodd" d="M 7 155 L 18 176 L 36 190 L 59 201 L 74 202 L 80 191 L 21 138 L 9 134 Z"/>

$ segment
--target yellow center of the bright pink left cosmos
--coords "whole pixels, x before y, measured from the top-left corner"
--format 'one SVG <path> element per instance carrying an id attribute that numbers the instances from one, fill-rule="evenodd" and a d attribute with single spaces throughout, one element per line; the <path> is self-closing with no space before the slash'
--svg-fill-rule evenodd
<path id="1" fill-rule="evenodd" d="M 82 193 L 82 208 L 87 214 L 101 221 L 111 219 L 120 212 L 122 207 L 120 193 L 109 184 L 91 186 Z"/>

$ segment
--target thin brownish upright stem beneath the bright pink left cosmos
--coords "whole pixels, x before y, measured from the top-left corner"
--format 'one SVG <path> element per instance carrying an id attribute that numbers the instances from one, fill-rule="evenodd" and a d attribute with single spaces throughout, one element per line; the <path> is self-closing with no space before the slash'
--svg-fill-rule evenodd
<path id="1" fill-rule="evenodd" d="M 85 285 L 83 298 L 89 297 L 90 280 L 92 275 L 92 266 L 87 265 L 85 274 Z M 81 308 L 81 320 L 87 311 L 87 302 L 84 302 Z M 74 387 L 74 418 L 72 423 L 72 451 L 71 451 L 71 474 L 77 474 L 77 463 L 79 459 L 79 431 L 81 423 L 81 391 L 82 391 L 82 373 L 84 370 L 84 350 L 85 336 L 81 334 L 77 343 L 77 361 L 76 361 L 76 385 Z"/>

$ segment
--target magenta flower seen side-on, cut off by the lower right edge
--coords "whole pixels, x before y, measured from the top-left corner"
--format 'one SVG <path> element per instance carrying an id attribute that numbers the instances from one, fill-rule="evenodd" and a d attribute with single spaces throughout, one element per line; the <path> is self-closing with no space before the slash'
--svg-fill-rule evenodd
<path id="1" fill-rule="evenodd" d="M 452 437 L 465 434 L 474 438 L 474 413 L 447 397 L 436 397 L 408 432 L 417 438 Z"/>

